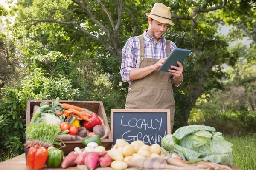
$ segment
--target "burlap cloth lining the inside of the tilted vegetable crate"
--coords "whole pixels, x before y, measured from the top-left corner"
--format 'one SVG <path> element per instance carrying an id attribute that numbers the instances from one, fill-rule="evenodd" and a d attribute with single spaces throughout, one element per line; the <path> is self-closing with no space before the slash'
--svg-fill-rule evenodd
<path id="1" fill-rule="evenodd" d="M 38 110 L 38 108 L 40 108 L 39 106 L 34 106 L 34 108 L 33 108 L 33 113 L 32 113 L 32 115 L 34 116 L 34 114 L 36 113 L 36 111 Z M 84 111 L 85 113 L 89 113 L 89 114 L 91 114 L 91 113 L 93 113 L 92 111 L 89 111 L 89 110 L 87 110 L 87 109 L 85 109 L 85 111 Z M 103 122 L 103 120 L 102 120 L 102 118 L 101 117 L 99 117 L 99 119 L 101 120 L 101 122 L 102 122 L 102 128 L 103 128 L 103 130 L 104 130 L 104 136 L 102 136 L 100 139 L 106 139 L 107 137 L 108 137 L 108 133 L 109 133 L 109 130 L 108 130 L 108 127 L 107 126 L 105 126 L 105 124 L 104 124 L 104 122 Z M 88 130 L 87 130 L 87 134 L 88 134 Z M 65 141 L 75 141 L 75 140 L 83 140 L 84 138 L 83 137 L 81 137 L 81 136 L 78 136 L 78 135 L 70 135 L 70 134 L 64 134 L 64 135 L 57 135 L 56 136 L 58 139 L 61 139 L 64 143 L 65 143 Z"/>

